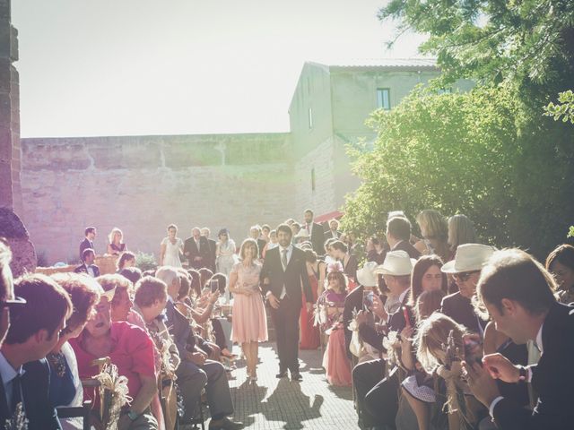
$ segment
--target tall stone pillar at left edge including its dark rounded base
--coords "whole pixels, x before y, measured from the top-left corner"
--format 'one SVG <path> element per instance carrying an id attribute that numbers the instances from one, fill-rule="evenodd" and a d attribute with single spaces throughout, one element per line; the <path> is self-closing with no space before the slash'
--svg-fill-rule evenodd
<path id="1" fill-rule="evenodd" d="M 16 215 L 22 213 L 20 86 L 13 66 L 18 60 L 18 31 L 11 12 L 10 0 L 0 0 L 0 236 L 12 249 L 10 266 L 16 277 L 36 269 L 36 252 Z"/>

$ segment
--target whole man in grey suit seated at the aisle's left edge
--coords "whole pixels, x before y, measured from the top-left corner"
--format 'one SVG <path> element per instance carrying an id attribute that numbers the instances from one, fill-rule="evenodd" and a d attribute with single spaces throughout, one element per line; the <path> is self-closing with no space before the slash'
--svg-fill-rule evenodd
<path id="1" fill-rule="evenodd" d="M 178 272 L 164 266 L 158 269 L 156 277 L 168 286 L 167 325 L 170 327 L 170 334 L 181 358 L 176 374 L 186 411 L 184 420 L 196 417 L 201 392 L 205 389 L 212 416 L 209 428 L 212 430 L 241 428 L 240 423 L 230 421 L 228 418 L 233 413 L 233 402 L 225 369 L 220 362 L 207 359 L 207 353 L 201 348 L 203 340 L 195 335 L 186 316 L 175 307 L 175 300 L 181 288 Z M 210 300 L 208 306 L 213 308 L 213 303 L 214 300 Z"/>

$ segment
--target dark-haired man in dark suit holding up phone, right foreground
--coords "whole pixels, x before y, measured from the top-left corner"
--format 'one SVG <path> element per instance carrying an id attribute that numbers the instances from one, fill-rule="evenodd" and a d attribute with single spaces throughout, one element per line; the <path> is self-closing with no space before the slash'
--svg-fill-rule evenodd
<path id="1" fill-rule="evenodd" d="M 483 267 L 477 298 L 496 329 L 517 344 L 535 341 L 537 365 L 514 366 L 500 354 L 483 357 L 483 366 L 463 363 L 476 399 L 488 409 L 501 430 L 571 428 L 574 423 L 574 306 L 554 297 L 552 275 L 519 249 L 495 252 Z M 494 379 L 531 383 L 538 394 L 534 410 L 500 396 Z"/>

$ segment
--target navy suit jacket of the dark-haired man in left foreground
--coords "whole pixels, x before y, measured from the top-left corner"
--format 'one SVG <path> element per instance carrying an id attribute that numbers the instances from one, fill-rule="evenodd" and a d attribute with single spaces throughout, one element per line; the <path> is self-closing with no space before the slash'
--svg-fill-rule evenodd
<path id="1" fill-rule="evenodd" d="M 29 430 L 61 430 L 57 419 L 56 409 L 50 406 L 49 401 L 49 365 L 45 358 L 30 361 L 23 367 L 22 399 Z M 13 417 L 8 408 L 4 383 L 0 378 L 0 422 Z M 2 427 L 4 428 L 4 426 Z"/>

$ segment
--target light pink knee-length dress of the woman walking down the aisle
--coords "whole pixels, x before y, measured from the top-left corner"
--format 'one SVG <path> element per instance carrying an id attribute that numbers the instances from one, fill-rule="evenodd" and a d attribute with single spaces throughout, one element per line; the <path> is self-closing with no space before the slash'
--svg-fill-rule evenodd
<path id="1" fill-rule="evenodd" d="M 250 267 L 245 267 L 242 262 L 237 262 L 231 268 L 231 273 L 237 273 L 239 288 L 252 288 L 255 294 L 233 295 L 233 331 L 231 340 L 243 342 L 265 342 L 267 340 L 267 315 L 263 305 L 263 297 L 259 290 L 259 273 L 261 263 L 254 262 Z"/>

